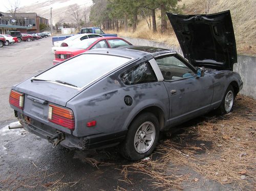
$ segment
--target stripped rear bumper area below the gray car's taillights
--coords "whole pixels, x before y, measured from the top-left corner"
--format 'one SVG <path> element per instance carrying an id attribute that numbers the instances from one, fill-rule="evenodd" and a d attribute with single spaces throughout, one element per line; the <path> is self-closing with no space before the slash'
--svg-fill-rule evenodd
<path id="1" fill-rule="evenodd" d="M 26 122 L 25 119 L 18 113 L 18 119 L 23 125 L 24 129 L 30 133 L 33 133 L 41 138 L 48 139 L 54 137 L 58 133 L 64 135 L 64 139 L 60 141 L 60 145 L 68 149 L 88 150 L 94 148 L 105 148 L 118 145 L 125 139 L 126 132 L 114 132 L 110 134 L 97 134 L 84 137 L 76 137 L 72 134 L 59 131 L 53 127 L 50 127 L 41 122 L 31 119 L 31 122 Z"/>

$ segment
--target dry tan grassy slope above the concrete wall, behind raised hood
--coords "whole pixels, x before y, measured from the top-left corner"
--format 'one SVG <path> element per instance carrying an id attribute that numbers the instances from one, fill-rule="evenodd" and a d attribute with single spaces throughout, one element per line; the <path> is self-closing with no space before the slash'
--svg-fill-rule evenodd
<path id="1" fill-rule="evenodd" d="M 205 11 L 204 0 L 182 0 L 180 5 L 185 4 L 183 14 L 203 14 Z M 237 50 L 240 54 L 256 54 L 256 0 L 213 0 L 210 6 L 209 13 L 216 13 L 225 10 L 230 10 L 234 28 L 234 34 L 236 36 Z M 157 12 L 157 28 L 160 29 L 160 12 Z M 160 42 L 166 42 L 169 44 L 178 44 L 178 40 L 167 22 L 168 30 L 165 34 L 153 33 L 151 29 L 148 29 L 145 19 L 140 19 L 137 27 L 137 31 L 132 33 L 132 28 L 129 28 L 128 32 L 124 30 L 108 31 L 118 33 L 119 36 L 130 36 L 135 38 L 151 39 Z"/>

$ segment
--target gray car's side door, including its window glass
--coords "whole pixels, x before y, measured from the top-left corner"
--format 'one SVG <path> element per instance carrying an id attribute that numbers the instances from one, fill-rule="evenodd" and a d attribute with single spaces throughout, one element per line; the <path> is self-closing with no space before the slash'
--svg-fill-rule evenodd
<path id="1" fill-rule="evenodd" d="M 210 76 L 196 77 L 196 69 L 177 54 L 155 59 L 169 96 L 169 125 L 206 113 L 213 94 Z"/>

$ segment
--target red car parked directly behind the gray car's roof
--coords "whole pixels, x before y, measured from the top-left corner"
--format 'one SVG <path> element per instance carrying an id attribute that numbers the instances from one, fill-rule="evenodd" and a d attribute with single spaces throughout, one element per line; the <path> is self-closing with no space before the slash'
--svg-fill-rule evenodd
<path id="1" fill-rule="evenodd" d="M 57 64 L 63 60 L 92 49 L 114 48 L 127 45 L 132 44 L 119 37 L 99 37 L 84 39 L 70 48 L 60 47 L 60 49 L 64 49 L 55 51 L 55 59 L 53 60 L 53 64 Z"/>

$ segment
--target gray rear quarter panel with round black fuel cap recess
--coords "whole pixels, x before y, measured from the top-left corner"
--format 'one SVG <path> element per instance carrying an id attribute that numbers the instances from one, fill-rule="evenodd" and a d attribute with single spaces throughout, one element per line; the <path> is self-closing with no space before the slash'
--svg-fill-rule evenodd
<path id="1" fill-rule="evenodd" d="M 165 121 L 168 119 L 169 100 L 163 83 L 124 85 L 119 75 L 125 70 L 121 69 L 102 79 L 67 103 L 67 107 L 74 111 L 76 117 L 76 128 L 73 132 L 75 136 L 127 130 L 134 117 L 150 106 L 158 106 L 164 113 Z M 132 97 L 131 106 L 124 103 L 125 96 Z M 97 121 L 97 125 L 87 127 L 87 123 L 93 120 Z"/>

